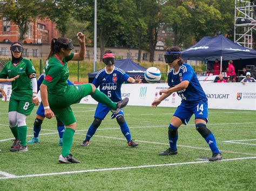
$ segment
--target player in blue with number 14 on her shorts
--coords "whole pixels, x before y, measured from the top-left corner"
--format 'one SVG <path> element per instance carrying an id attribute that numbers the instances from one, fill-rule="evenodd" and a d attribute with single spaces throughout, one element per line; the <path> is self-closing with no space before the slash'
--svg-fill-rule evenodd
<path id="1" fill-rule="evenodd" d="M 181 60 L 180 51 L 180 48 L 177 46 L 166 49 L 164 55 L 165 62 L 172 67 L 168 74 L 168 85 L 170 88 L 160 90 L 159 94 L 161 96 L 151 104 L 153 108 L 156 108 L 161 101 L 165 100 L 165 98 L 170 96 L 173 92 L 177 92 L 182 100 L 169 125 L 168 135 L 170 148 L 159 153 L 159 155 L 178 154 L 178 128 L 181 124 L 186 125 L 194 114 L 196 129 L 200 135 L 204 137 L 213 153 L 209 161 L 221 160 L 222 155 L 217 147 L 214 135 L 206 128 L 208 121 L 207 97 L 192 67 L 187 63 L 183 63 L 183 60 Z"/>

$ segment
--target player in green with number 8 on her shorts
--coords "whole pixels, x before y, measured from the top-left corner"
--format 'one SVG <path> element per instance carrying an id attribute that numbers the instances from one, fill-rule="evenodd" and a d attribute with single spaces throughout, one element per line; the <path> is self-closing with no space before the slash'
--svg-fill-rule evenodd
<path id="1" fill-rule="evenodd" d="M 38 105 L 36 71 L 31 61 L 22 57 L 21 43 L 12 43 L 10 50 L 12 60 L 6 63 L 0 73 L 0 79 L 12 79 L 9 126 L 15 140 L 10 151 L 28 151 L 26 117 L 31 114 L 34 105 Z"/>

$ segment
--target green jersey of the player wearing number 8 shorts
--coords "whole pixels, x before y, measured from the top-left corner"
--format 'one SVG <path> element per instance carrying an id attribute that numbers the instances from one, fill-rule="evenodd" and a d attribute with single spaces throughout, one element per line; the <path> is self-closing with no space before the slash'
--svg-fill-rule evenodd
<path id="1" fill-rule="evenodd" d="M 0 78 L 9 77 L 10 79 L 19 75 L 15 81 L 11 82 L 11 98 L 27 101 L 32 99 L 32 82 L 29 75 L 35 72 L 32 62 L 23 58 L 16 65 L 11 61 L 7 62 L 0 73 Z"/>

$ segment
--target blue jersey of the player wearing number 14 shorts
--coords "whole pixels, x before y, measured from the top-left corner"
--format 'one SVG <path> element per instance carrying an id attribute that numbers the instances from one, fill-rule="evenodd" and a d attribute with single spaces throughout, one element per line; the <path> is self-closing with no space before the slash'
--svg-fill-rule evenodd
<path id="1" fill-rule="evenodd" d="M 177 86 L 182 81 L 189 81 L 186 89 L 177 91 L 183 103 L 192 103 L 198 101 L 207 101 L 207 97 L 201 87 L 197 75 L 193 68 L 187 63 L 180 66 L 179 71 L 174 73 L 174 69 L 170 69 L 168 73 L 168 85 L 170 87 Z"/>

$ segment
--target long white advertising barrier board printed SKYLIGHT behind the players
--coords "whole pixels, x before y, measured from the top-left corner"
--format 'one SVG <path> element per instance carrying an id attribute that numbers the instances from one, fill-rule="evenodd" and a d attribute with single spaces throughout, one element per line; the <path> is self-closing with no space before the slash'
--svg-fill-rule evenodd
<path id="1" fill-rule="evenodd" d="M 201 83 L 211 109 L 256 110 L 256 83 Z M 159 97 L 161 89 L 167 89 L 166 83 L 123 84 L 122 98 L 129 97 L 128 105 L 150 106 Z M 11 86 L 5 85 L 4 91 L 9 100 Z M 3 98 L 2 98 L 3 100 Z M 160 103 L 161 107 L 178 107 L 181 98 L 173 93 Z M 82 98 L 80 103 L 97 104 L 91 96 Z"/>

